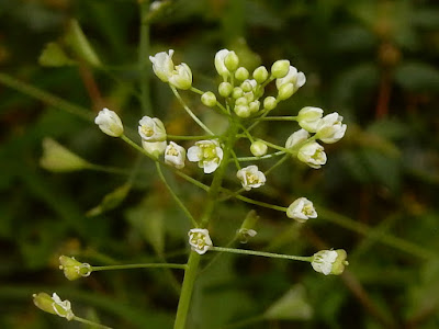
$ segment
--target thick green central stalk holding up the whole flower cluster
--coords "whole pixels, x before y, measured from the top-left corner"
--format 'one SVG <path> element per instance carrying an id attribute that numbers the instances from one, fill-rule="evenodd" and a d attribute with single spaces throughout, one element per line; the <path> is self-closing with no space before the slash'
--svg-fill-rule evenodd
<path id="1" fill-rule="evenodd" d="M 221 191 L 221 185 L 227 168 L 228 158 L 230 157 L 230 152 L 236 141 L 237 129 L 238 125 L 235 122 L 230 121 L 229 128 L 226 133 L 227 141 L 224 147 L 223 161 L 221 162 L 221 166 L 216 169 L 211 188 L 209 189 L 207 204 L 204 208 L 204 214 L 201 218 L 202 228 L 207 226 L 209 220 L 213 214 L 215 204 L 217 202 L 217 195 Z M 173 325 L 175 329 L 185 328 L 189 306 L 191 303 L 193 285 L 195 283 L 199 264 L 200 264 L 200 254 L 198 254 L 195 251 L 191 251 L 188 260 L 188 269 L 184 272 L 183 285 L 181 287 L 181 295 L 180 295 L 179 306 L 177 309 L 176 322 Z"/>

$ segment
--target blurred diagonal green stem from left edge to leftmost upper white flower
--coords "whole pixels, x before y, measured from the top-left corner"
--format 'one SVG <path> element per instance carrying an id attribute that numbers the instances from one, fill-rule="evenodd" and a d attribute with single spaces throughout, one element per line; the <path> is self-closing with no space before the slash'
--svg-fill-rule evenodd
<path id="1" fill-rule="evenodd" d="M 37 99 L 37 100 L 40 100 L 46 104 L 49 104 L 54 107 L 58 107 L 59 110 L 63 110 L 70 114 L 74 114 L 78 117 L 81 117 L 89 122 L 93 121 L 93 115 L 90 113 L 90 111 L 88 109 L 72 104 L 72 103 L 70 103 L 66 100 L 63 100 L 52 93 L 48 93 L 47 91 L 41 90 L 31 84 L 22 82 L 15 78 L 12 78 L 11 76 L 0 72 L 0 83 L 3 83 L 4 86 L 8 86 L 9 88 L 15 89 L 15 90 L 20 91 L 21 93 L 24 93 L 29 97 Z"/>

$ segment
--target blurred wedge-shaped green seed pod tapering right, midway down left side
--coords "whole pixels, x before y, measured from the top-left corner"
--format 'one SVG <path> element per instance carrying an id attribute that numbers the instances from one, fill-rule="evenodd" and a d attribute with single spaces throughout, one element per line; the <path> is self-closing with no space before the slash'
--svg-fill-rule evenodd
<path id="1" fill-rule="evenodd" d="M 43 156 L 40 166 L 54 172 L 87 169 L 90 163 L 52 138 L 43 139 Z"/>

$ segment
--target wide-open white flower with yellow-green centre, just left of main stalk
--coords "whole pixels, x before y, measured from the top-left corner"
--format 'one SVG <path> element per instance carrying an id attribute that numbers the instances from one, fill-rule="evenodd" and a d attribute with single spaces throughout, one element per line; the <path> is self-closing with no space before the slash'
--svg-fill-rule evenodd
<path id="1" fill-rule="evenodd" d="M 199 167 L 203 168 L 205 173 L 212 173 L 223 160 L 223 149 L 215 139 L 200 140 L 188 149 L 188 159 L 199 162 Z"/>

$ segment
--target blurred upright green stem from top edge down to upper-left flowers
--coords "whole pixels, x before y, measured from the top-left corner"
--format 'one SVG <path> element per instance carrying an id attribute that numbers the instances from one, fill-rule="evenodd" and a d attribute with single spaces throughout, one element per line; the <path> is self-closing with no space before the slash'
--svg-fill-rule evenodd
<path id="1" fill-rule="evenodd" d="M 140 105 L 142 113 L 145 115 L 153 116 L 153 107 L 150 104 L 150 92 L 149 92 L 149 23 L 147 15 L 149 11 L 149 1 L 138 1 L 140 12 L 140 36 L 138 43 L 138 72 L 140 83 Z"/>

